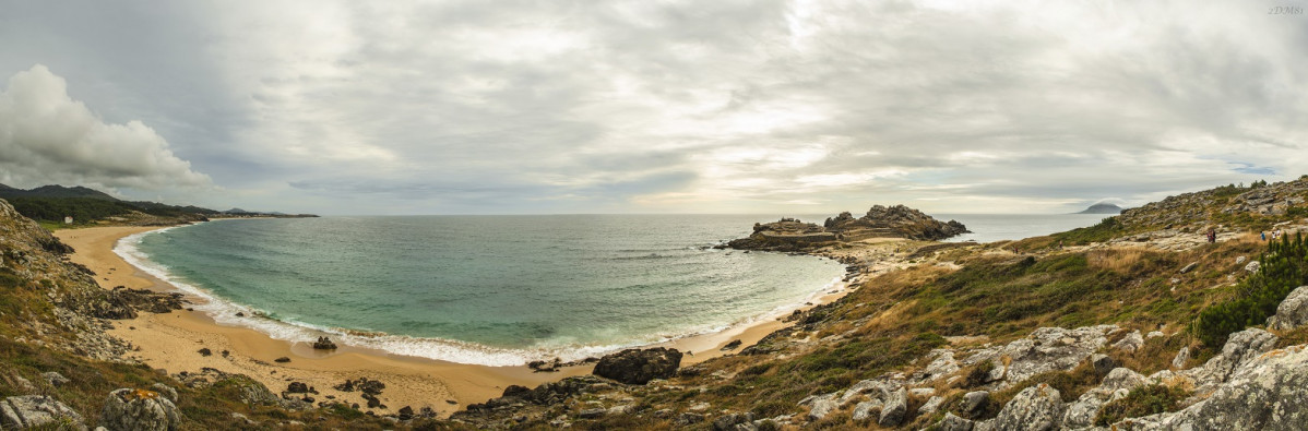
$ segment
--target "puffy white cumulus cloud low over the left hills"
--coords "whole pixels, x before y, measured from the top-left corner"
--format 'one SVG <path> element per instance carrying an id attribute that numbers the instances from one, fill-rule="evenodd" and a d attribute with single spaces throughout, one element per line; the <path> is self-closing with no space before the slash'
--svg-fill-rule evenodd
<path id="1" fill-rule="evenodd" d="M 41 64 L 10 77 L 0 93 L 0 182 L 141 191 L 212 185 L 153 129 L 135 120 L 105 123 Z"/>

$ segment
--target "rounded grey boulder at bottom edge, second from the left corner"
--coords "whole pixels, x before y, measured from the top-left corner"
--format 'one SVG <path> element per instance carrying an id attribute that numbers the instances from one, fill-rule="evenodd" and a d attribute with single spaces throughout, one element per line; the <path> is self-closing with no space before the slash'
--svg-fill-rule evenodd
<path id="1" fill-rule="evenodd" d="M 99 424 L 110 431 L 171 431 L 182 424 L 182 414 L 158 392 L 123 388 L 109 393 Z"/>

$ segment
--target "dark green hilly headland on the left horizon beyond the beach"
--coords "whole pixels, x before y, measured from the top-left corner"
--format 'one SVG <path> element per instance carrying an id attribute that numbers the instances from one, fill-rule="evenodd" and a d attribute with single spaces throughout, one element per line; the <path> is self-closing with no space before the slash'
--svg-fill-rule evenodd
<path id="1" fill-rule="evenodd" d="M 232 209 L 218 212 L 195 205 L 167 205 L 152 201 L 126 201 L 88 187 L 42 185 L 21 189 L 0 184 L 0 199 L 22 216 L 54 225 L 137 225 L 167 226 L 233 217 L 318 217 L 276 212 Z"/>

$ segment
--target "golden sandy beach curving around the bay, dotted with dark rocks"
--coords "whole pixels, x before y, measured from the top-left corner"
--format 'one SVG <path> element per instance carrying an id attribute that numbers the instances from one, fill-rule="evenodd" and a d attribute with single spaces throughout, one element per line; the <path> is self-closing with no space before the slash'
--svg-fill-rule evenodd
<path id="1" fill-rule="evenodd" d="M 88 227 L 60 230 L 55 235 L 76 249 L 71 256 L 72 261 L 86 265 L 97 273 L 95 281 L 99 282 L 101 287 L 127 286 L 154 291 L 178 291 L 165 281 L 132 266 L 114 253 L 119 239 L 156 229 L 160 227 Z M 835 294 L 823 293 L 814 303 L 831 302 L 845 293 L 844 289 Z M 195 303 L 203 302 L 201 298 L 195 296 L 187 299 Z M 744 346 L 748 346 L 785 325 L 780 320 L 769 317 L 718 333 L 680 338 L 661 343 L 661 346 L 693 353 L 683 359 L 683 364 L 691 364 L 730 354 L 731 351 L 721 351 L 719 349 L 732 340 L 740 340 Z M 412 406 L 413 410 L 429 406 L 443 417 L 468 404 L 498 397 L 508 385 L 535 387 L 591 371 L 590 366 L 577 366 L 566 367 L 561 372 L 538 374 L 525 366 L 459 364 L 351 346 L 341 346 L 334 353 L 323 353 L 314 350 L 309 342 L 273 340 L 254 329 L 220 325 L 201 312 L 186 310 L 164 315 L 141 312 L 137 319 L 114 321 L 111 333 L 139 347 L 137 351 L 128 355 L 150 367 L 166 370 L 169 374 L 196 372 L 201 367 L 245 374 L 262 381 L 275 393 L 285 391 L 290 381 L 302 381 L 320 392 L 319 400 L 334 396 L 336 400 L 358 402 L 365 406 L 366 402 L 358 392 L 345 393 L 332 389 L 332 387 L 347 379 L 381 380 L 386 384 L 386 391 L 379 398 L 388 409 L 371 409 L 377 413 L 395 411 L 403 406 Z M 213 354 L 204 357 L 198 353 L 205 347 Z M 224 357 L 220 354 L 222 351 L 229 354 Z M 273 362 L 280 357 L 288 357 L 292 360 L 288 363 Z M 364 407 L 364 410 L 369 409 Z"/>

